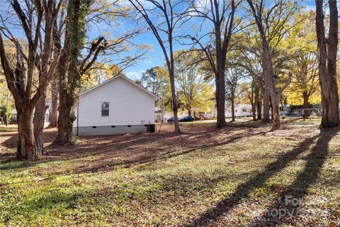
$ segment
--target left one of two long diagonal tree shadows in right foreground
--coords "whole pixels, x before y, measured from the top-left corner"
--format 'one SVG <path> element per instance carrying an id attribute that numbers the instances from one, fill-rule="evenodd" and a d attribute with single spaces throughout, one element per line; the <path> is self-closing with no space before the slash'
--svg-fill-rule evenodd
<path id="1" fill-rule="evenodd" d="M 288 153 L 285 153 L 284 155 L 281 155 L 275 162 L 271 162 L 266 165 L 263 172 L 251 177 L 251 179 L 249 179 L 247 182 L 240 184 L 231 196 L 222 199 L 216 206 L 209 209 L 208 211 L 205 211 L 205 213 L 201 214 L 195 221 L 187 224 L 186 226 L 205 226 L 216 221 L 217 218 L 227 213 L 227 211 L 236 206 L 242 199 L 248 198 L 249 194 L 254 189 L 262 187 L 267 179 L 280 172 L 280 170 L 283 170 L 283 168 L 295 160 L 298 155 L 305 152 L 305 150 L 307 150 L 310 145 L 312 145 L 317 137 L 318 136 L 315 135 L 312 138 L 305 139 L 299 145 L 297 145 L 296 148 Z"/>

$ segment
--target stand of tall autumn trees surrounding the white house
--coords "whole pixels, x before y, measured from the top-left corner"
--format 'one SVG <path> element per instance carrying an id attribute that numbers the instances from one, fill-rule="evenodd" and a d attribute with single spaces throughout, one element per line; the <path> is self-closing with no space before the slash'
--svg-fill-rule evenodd
<path id="1" fill-rule="evenodd" d="M 50 127 L 58 128 L 55 145 L 73 143 L 77 118 L 73 112 L 84 84 L 98 78 L 96 70 L 111 68 L 108 75 L 113 77 L 145 56 L 146 45 L 131 45 L 145 31 L 151 31 L 162 49 L 166 71 L 162 66 L 157 72 L 150 69 L 141 82 L 152 92 L 162 92 L 165 108 L 174 115 L 176 133 L 179 109 L 187 109 L 191 116 L 193 108 L 215 105 L 216 127 L 222 128 L 225 101 L 231 103 L 234 121 L 237 99 L 249 99 L 254 121 L 279 127 L 280 106 L 292 99 L 286 89 L 300 92 L 304 109 L 310 107 L 312 95 L 321 94 L 321 127 L 339 126 L 336 1 L 327 6 L 329 20 L 324 18 L 323 1 L 316 1 L 316 14 L 305 12 L 295 1 L 23 2 L 10 2 L 8 16 L 1 16 L 0 33 L 2 74 L 18 110 L 20 158 L 34 159 L 43 153 L 47 94 L 52 100 Z M 16 18 L 20 23 L 9 28 Z M 90 23 L 114 27 L 122 18 L 141 26 L 116 39 L 89 37 Z M 13 29 L 24 36 L 13 35 Z M 181 50 L 175 51 L 174 43 Z M 127 52 L 129 45 L 136 50 L 134 56 L 111 65 L 103 62 L 105 56 Z"/>

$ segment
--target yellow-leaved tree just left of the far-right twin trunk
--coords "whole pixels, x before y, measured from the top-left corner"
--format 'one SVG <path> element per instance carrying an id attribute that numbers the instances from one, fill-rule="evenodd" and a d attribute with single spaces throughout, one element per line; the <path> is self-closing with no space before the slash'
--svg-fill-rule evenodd
<path id="1" fill-rule="evenodd" d="M 303 105 L 304 109 L 321 101 L 314 18 L 314 11 L 296 14 L 294 20 L 301 22 L 297 23 L 288 38 L 295 55 L 288 63 L 293 79 L 286 96 L 289 104 Z M 309 113 L 306 111 L 305 117 L 307 116 Z"/>

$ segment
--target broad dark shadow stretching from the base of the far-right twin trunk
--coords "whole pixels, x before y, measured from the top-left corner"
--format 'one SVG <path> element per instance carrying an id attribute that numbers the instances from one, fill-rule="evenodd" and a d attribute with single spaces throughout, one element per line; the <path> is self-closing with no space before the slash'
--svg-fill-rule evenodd
<path id="1" fill-rule="evenodd" d="M 308 194 L 312 184 L 317 183 L 322 166 L 329 153 L 329 141 L 337 134 L 339 128 L 322 130 L 316 144 L 305 158 L 304 170 L 300 172 L 290 186 L 286 187 L 273 204 L 251 226 L 280 226 L 281 224 L 297 224 L 303 198 Z M 316 205 L 316 204 L 315 204 Z M 305 216 L 302 214 L 302 216 Z M 314 217 L 317 218 L 317 217 Z M 321 218 L 321 217 L 319 217 Z M 327 217 L 328 218 L 328 217 Z M 300 223 L 301 224 L 301 223 Z"/>

